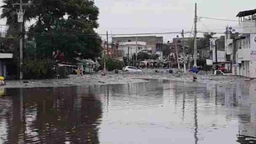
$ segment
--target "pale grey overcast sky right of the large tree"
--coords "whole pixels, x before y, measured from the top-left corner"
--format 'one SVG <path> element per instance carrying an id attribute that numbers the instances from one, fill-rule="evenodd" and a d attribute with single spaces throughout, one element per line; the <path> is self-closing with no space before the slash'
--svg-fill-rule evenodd
<path id="1" fill-rule="evenodd" d="M 106 30 L 109 34 L 191 31 L 195 3 L 197 16 L 230 20 L 238 20 L 239 11 L 256 8 L 256 0 L 95 0 L 100 10 L 96 31 L 99 34 L 105 34 Z M 227 24 L 237 26 L 238 22 L 202 18 L 197 29 L 222 32 Z M 159 36 L 168 41 L 176 35 Z M 185 36 L 189 37 L 189 34 Z"/>

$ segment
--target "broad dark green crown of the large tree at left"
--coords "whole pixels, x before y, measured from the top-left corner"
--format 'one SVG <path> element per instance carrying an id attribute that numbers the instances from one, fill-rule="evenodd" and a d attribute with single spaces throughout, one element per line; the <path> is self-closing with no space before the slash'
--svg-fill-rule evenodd
<path id="1" fill-rule="evenodd" d="M 35 0 L 37 22 L 30 27 L 37 53 L 44 58 L 60 50 L 65 60 L 94 58 L 101 52 L 98 27 L 99 10 L 91 0 Z M 41 6 L 41 7 L 40 7 Z M 78 55 L 80 54 L 80 55 Z"/>

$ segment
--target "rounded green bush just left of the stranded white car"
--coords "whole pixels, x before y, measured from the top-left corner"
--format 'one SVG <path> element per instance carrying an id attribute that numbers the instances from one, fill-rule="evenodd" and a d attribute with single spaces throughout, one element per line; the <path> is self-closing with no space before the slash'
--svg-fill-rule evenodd
<path id="1" fill-rule="evenodd" d="M 112 71 L 114 69 L 122 69 L 123 62 L 114 58 L 106 58 L 106 69 Z M 104 68 L 104 59 L 101 60 L 101 67 Z"/>

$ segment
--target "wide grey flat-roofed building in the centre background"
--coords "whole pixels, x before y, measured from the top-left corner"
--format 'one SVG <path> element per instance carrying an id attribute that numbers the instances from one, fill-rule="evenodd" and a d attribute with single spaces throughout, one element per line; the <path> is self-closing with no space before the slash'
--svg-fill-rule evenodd
<path id="1" fill-rule="evenodd" d="M 118 43 L 118 50 L 120 50 L 120 44 L 123 46 L 131 46 L 132 50 L 134 49 L 136 52 L 136 41 L 138 46 L 137 53 L 139 53 L 139 47 L 142 48 L 142 51 L 147 52 L 148 54 L 158 54 L 159 59 L 162 59 L 163 53 L 162 53 L 162 45 L 163 45 L 163 37 L 157 37 L 157 36 L 140 36 L 140 37 L 113 37 L 112 42 Z M 122 43 L 125 42 L 125 43 Z M 130 42 L 130 43 L 127 43 Z M 146 42 L 146 45 L 144 45 Z M 121 48 L 122 49 L 122 48 Z M 123 57 L 126 57 L 128 55 L 128 47 L 124 47 Z M 133 52 L 133 51 L 132 51 Z"/>

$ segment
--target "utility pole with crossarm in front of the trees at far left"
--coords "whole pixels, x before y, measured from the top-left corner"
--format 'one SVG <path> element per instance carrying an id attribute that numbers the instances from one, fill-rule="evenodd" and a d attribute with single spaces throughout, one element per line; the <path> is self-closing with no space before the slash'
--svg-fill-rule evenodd
<path id="1" fill-rule="evenodd" d="M 23 4 L 22 0 L 20 3 L 14 3 L 12 5 L 19 5 L 19 12 L 18 12 L 18 22 L 20 23 L 20 40 L 19 40 L 19 57 L 20 57 L 20 75 L 19 78 L 23 79 L 23 74 L 21 71 L 21 67 L 23 64 L 23 5 L 30 5 L 30 3 Z"/>

